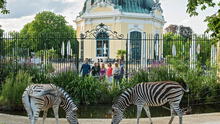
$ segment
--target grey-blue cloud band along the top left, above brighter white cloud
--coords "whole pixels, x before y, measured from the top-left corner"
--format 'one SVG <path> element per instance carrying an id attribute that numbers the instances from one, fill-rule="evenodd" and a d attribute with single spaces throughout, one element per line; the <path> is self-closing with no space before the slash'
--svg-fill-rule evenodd
<path id="1" fill-rule="evenodd" d="M 8 0 L 7 9 L 10 10 L 10 14 L 0 15 L 0 18 L 20 18 L 43 10 L 59 13 L 75 3 L 76 0 Z"/>

